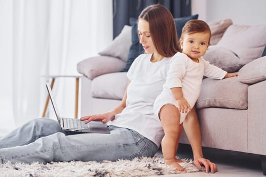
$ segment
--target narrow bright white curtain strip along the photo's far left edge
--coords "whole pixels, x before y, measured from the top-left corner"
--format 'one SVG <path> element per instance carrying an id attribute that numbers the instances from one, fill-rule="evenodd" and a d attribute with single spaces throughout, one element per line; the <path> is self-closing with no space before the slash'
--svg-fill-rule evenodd
<path id="1" fill-rule="evenodd" d="M 12 1 L 0 0 L 0 136 L 15 127 L 12 111 Z"/>

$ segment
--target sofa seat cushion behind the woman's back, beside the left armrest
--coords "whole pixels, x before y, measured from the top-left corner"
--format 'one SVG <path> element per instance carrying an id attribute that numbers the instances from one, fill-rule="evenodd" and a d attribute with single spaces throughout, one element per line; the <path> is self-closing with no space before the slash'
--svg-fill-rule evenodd
<path id="1" fill-rule="evenodd" d="M 122 100 L 127 83 L 126 72 L 100 75 L 92 80 L 92 97 Z"/>

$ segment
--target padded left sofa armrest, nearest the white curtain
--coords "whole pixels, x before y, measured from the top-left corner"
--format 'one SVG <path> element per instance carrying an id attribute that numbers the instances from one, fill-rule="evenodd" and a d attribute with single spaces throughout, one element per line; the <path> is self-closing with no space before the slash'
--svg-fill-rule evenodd
<path id="1" fill-rule="evenodd" d="M 109 56 L 90 57 L 78 63 L 77 70 L 79 73 L 93 79 L 102 74 L 119 72 L 124 69 L 126 62 L 118 58 Z"/>

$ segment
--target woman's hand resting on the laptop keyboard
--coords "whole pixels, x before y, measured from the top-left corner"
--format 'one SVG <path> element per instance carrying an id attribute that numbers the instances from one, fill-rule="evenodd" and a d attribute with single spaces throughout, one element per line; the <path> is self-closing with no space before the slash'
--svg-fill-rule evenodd
<path id="1" fill-rule="evenodd" d="M 106 123 L 109 120 L 113 120 L 115 115 L 112 112 L 106 112 L 103 114 L 95 114 L 88 115 L 81 118 L 82 121 L 87 120 L 85 123 L 89 123 L 90 121 L 101 121 L 102 123 Z"/>

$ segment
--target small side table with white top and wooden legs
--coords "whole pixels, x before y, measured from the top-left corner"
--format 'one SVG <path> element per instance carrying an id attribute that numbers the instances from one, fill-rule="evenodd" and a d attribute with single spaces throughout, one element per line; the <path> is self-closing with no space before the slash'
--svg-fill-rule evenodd
<path id="1" fill-rule="evenodd" d="M 58 77 L 73 77 L 73 78 L 75 78 L 75 107 L 74 107 L 75 115 L 74 115 L 74 118 L 76 118 L 76 119 L 78 118 L 79 85 L 80 85 L 80 77 L 81 76 L 82 75 L 47 75 L 47 76 L 43 76 L 43 77 L 46 77 L 47 79 L 52 78 L 51 85 L 50 85 L 51 89 L 53 89 L 55 79 L 58 78 Z M 49 97 L 49 94 L 48 94 L 47 98 L 46 98 L 45 107 L 44 107 L 44 111 L 43 111 L 42 117 L 45 117 L 49 100 L 50 100 L 50 97 Z"/>

